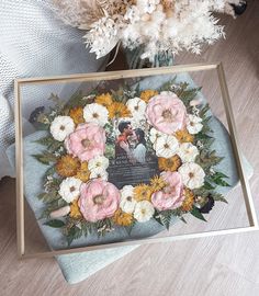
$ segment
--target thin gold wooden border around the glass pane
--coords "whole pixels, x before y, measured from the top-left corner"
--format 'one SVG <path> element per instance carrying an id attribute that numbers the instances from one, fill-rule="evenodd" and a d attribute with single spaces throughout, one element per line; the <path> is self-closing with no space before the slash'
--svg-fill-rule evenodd
<path id="1" fill-rule="evenodd" d="M 222 98 L 224 102 L 227 124 L 230 134 L 232 146 L 234 156 L 237 164 L 237 171 L 240 179 L 244 201 L 246 205 L 246 212 L 248 216 L 249 226 L 224 229 L 224 230 L 212 230 L 189 235 L 178 235 L 174 237 L 164 238 L 145 238 L 140 240 L 131 240 L 124 242 L 105 243 L 99 246 L 80 247 L 65 250 L 50 250 L 47 252 L 40 252 L 33 254 L 25 254 L 25 236 L 24 236 L 24 193 L 23 193 L 23 145 L 22 145 L 22 110 L 21 110 L 21 86 L 24 84 L 43 84 L 43 83 L 66 83 L 66 82 L 83 82 L 83 81 L 98 81 L 98 80 L 113 80 L 123 78 L 135 78 L 135 77 L 147 77 L 155 75 L 166 73 L 178 73 L 178 72 L 193 72 L 201 70 L 216 70 L 222 91 Z M 43 77 L 43 78 L 24 78 L 16 79 L 14 82 L 15 89 L 15 157 L 16 157 L 16 239 L 18 239 L 18 253 L 20 258 L 32 258 L 32 257 L 55 257 L 59 254 L 68 254 L 76 252 L 86 252 L 98 249 L 115 248 L 130 244 L 143 244 L 143 243 L 155 243 L 166 241 L 177 241 L 182 239 L 202 238 L 210 236 L 229 235 L 237 232 L 246 232 L 258 229 L 258 221 L 254 201 L 251 197 L 250 186 L 248 178 L 244 170 L 244 162 L 241 158 L 240 147 L 237 138 L 236 125 L 234 121 L 233 110 L 230 105 L 229 93 L 226 84 L 225 73 L 223 65 L 218 64 L 194 64 L 183 66 L 172 66 L 153 69 L 138 69 L 138 70 L 124 70 L 124 71 L 110 71 L 110 72 L 97 72 L 86 75 L 70 75 L 70 76 L 57 76 L 57 77 Z"/>

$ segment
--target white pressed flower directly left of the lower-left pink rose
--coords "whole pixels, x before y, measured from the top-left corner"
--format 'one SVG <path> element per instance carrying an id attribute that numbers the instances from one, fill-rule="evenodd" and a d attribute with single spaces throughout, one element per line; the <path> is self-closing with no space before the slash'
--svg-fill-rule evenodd
<path id="1" fill-rule="evenodd" d="M 70 177 L 63 180 L 58 193 L 67 203 L 71 203 L 80 195 L 81 180 Z"/>

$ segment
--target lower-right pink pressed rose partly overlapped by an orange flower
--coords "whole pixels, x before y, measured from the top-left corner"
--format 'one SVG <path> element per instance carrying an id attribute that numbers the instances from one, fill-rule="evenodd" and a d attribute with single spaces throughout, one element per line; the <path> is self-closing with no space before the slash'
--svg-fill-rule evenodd
<path id="1" fill-rule="evenodd" d="M 162 172 L 161 177 L 168 185 L 164 190 L 153 193 L 151 203 L 159 210 L 178 208 L 184 200 L 180 173 Z"/>

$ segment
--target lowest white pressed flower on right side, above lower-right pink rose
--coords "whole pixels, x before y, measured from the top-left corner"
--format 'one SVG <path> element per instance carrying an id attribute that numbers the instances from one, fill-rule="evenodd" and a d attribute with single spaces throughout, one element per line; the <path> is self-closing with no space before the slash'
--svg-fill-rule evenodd
<path id="1" fill-rule="evenodd" d="M 178 169 L 178 172 L 181 174 L 182 182 L 187 187 L 193 190 L 203 186 L 205 173 L 201 166 L 187 162 Z"/>

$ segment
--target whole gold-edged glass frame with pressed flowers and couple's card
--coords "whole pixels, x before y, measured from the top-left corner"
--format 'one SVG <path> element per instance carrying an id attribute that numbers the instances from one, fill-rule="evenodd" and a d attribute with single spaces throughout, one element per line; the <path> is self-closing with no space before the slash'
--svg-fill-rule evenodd
<path id="1" fill-rule="evenodd" d="M 20 257 L 258 229 L 222 64 L 16 79 L 15 126 Z"/>

